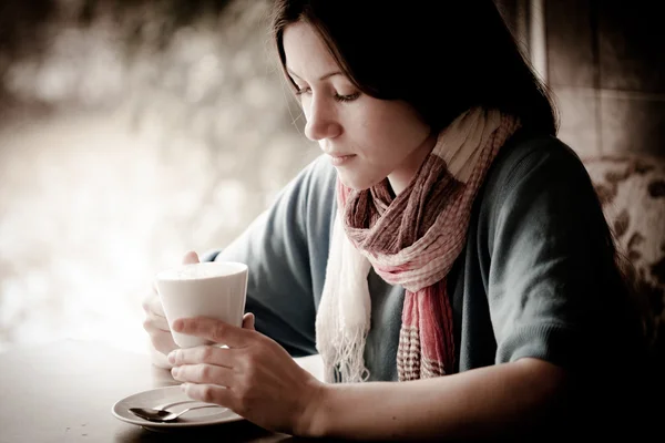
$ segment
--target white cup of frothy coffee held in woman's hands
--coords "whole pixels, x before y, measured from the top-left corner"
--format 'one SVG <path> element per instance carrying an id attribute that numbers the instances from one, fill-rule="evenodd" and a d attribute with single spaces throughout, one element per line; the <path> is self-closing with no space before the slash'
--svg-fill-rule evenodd
<path id="1" fill-rule="evenodd" d="M 158 272 L 157 292 L 168 326 L 178 318 L 211 317 L 242 327 L 247 297 L 247 265 L 235 261 L 204 261 L 181 265 Z M 213 342 L 171 330 L 181 348 Z"/>

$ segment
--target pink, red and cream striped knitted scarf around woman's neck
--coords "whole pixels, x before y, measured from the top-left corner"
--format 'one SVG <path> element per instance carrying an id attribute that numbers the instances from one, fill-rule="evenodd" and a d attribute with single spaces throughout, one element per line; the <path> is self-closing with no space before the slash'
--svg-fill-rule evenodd
<path id="1" fill-rule="evenodd" d="M 338 181 L 317 349 L 328 382 L 367 380 L 370 267 L 405 288 L 397 351 L 400 381 L 454 369 L 447 275 L 462 250 L 471 207 L 499 148 L 519 122 L 493 110 L 460 115 L 437 140 L 410 185 L 392 197 L 387 179 L 364 190 Z"/>

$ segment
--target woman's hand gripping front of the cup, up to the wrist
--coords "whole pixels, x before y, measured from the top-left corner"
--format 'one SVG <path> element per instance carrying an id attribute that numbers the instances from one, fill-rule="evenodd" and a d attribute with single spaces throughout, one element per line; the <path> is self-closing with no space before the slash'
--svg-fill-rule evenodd
<path id="1" fill-rule="evenodd" d="M 254 329 L 197 317 L 173 322 L 176 332 L 203 337 L 228 348 L 202 346 L 168 354 L 171 373 L 192 399 L 217 403 L 268 430 L 307 433 L 324 383 L 304 370 L 277 342 Z"/>

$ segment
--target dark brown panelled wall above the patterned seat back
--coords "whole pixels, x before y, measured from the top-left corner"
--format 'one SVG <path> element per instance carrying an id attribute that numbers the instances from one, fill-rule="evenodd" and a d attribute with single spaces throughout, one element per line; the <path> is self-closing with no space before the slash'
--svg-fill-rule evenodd
<path id="1" fill-rule="evenodd" d="M 658 1 L 545 2 L 548 81 L 562 135 L 583 154 L 665 156 L 665 27 Z"/>

